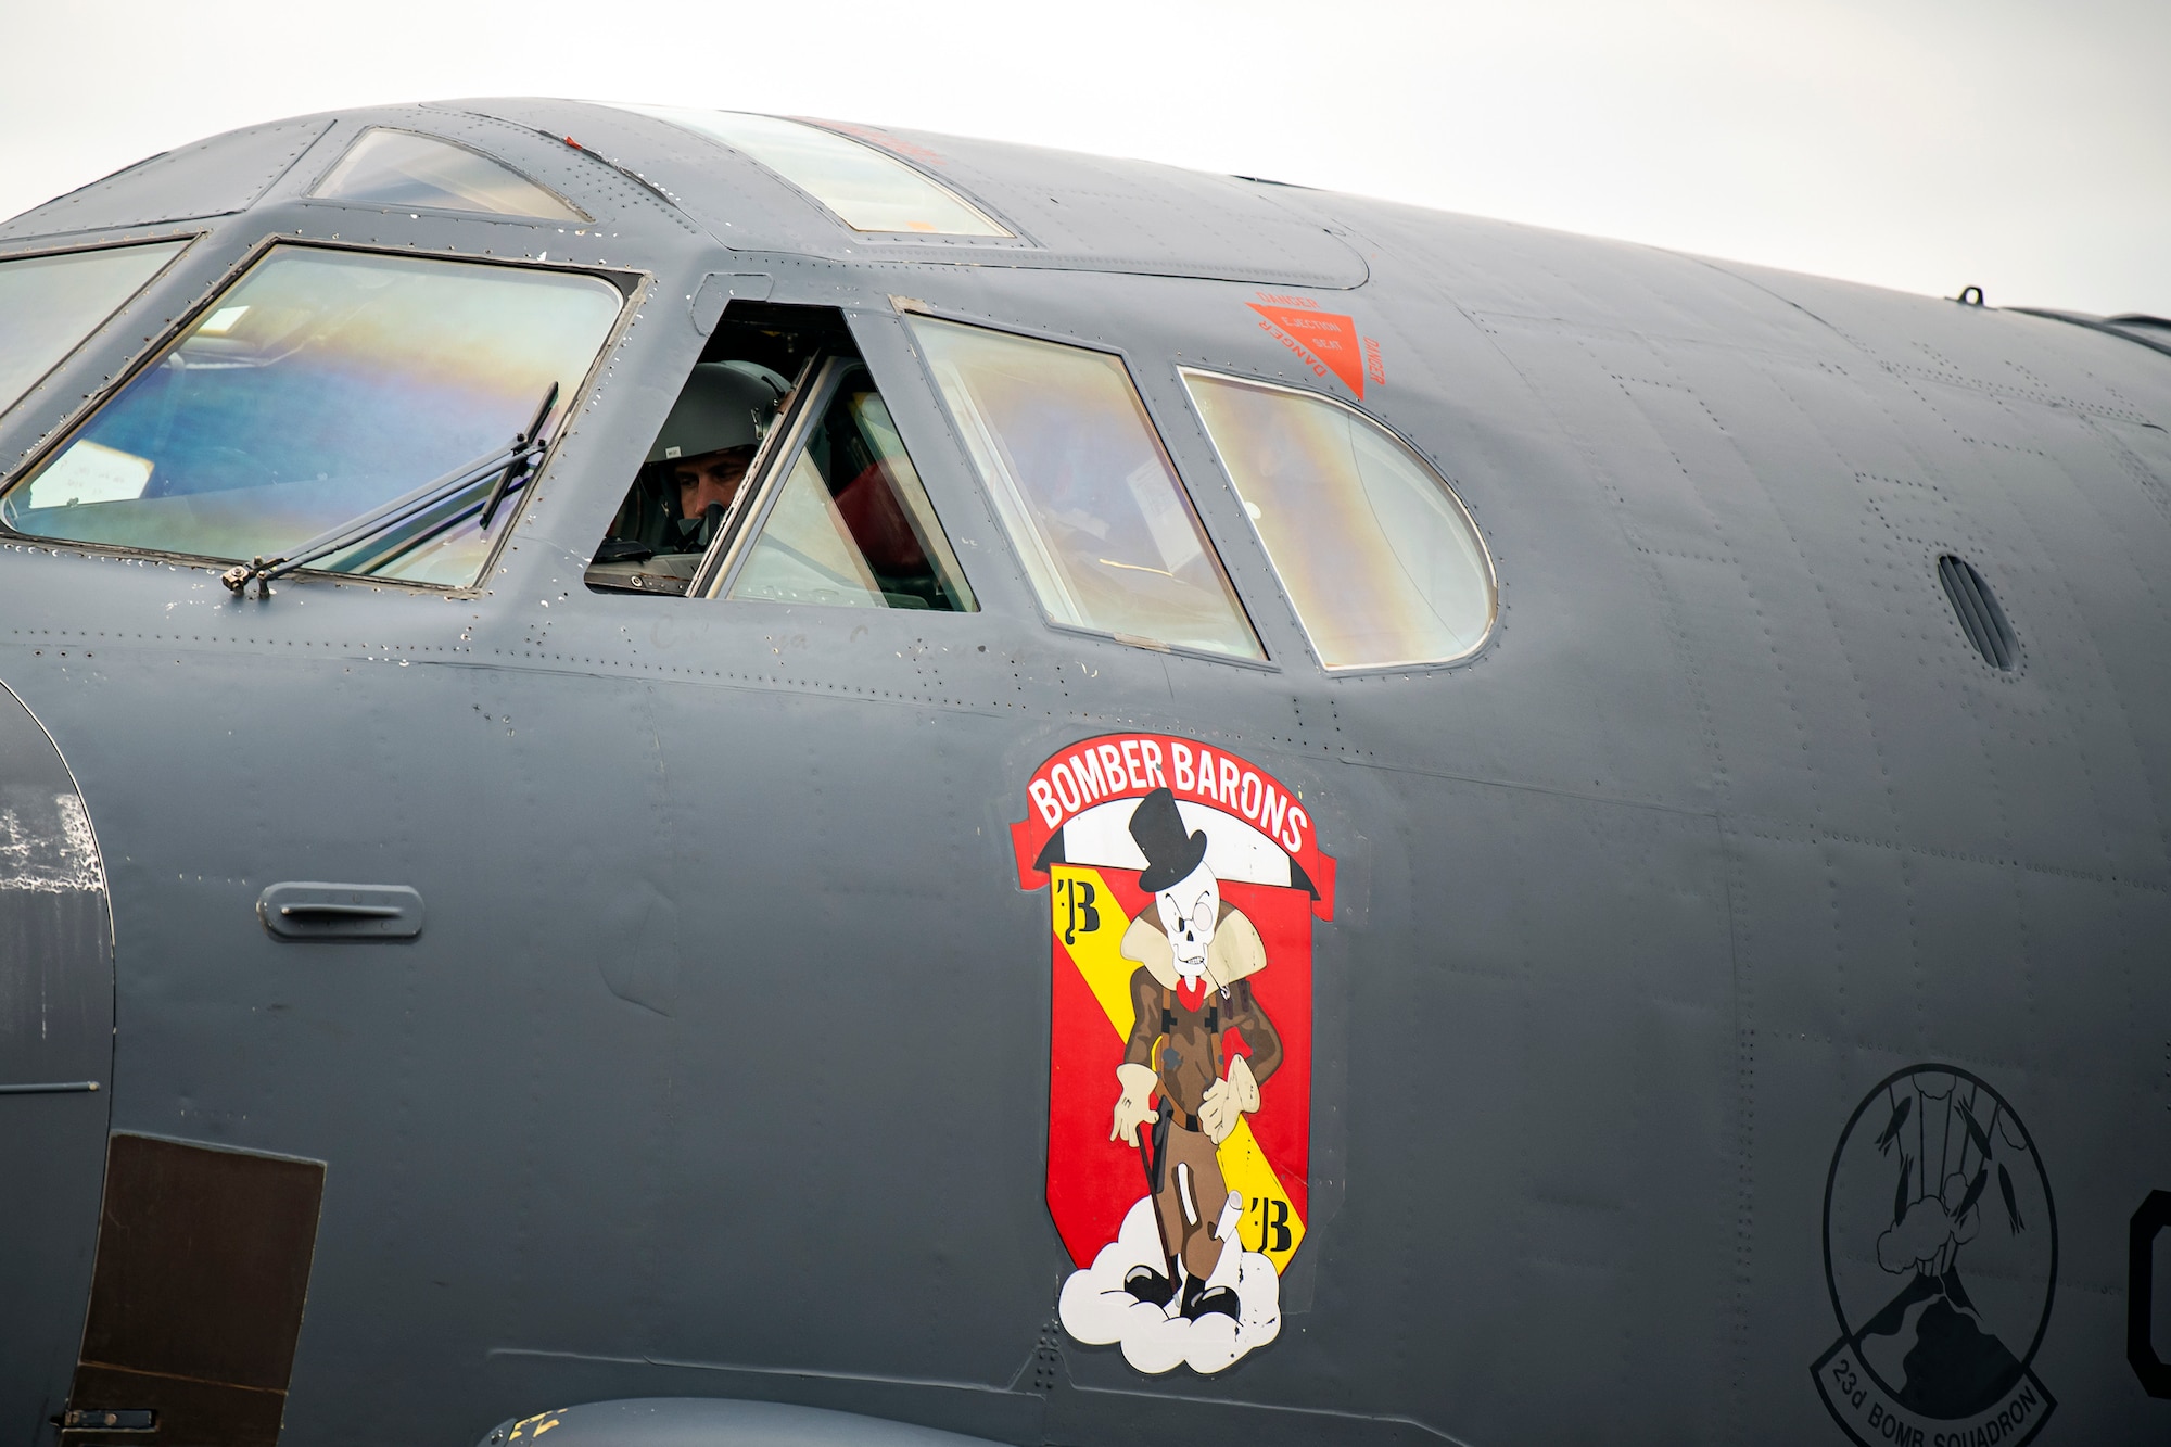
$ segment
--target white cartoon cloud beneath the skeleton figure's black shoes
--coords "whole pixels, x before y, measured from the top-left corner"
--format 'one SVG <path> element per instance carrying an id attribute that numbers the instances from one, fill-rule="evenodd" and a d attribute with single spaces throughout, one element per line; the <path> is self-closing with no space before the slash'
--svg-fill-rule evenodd
<path id="1" fill-rule="evenodd" d="M 1168 1269 L 1161 1234 L 1153 1223 L 1153 1197 L 1140 1197 L 1122 1217 L 1116 1241 L 1101 1247 L 1090 1267 L 1072 1271 L 1064 1282 L 1057 1314 L 1075 1341 L 1096 1347 L 1120 1341 L 1122 1360 L 1146 1373 L 1161 1373 L 1183 1362 L 1201 1375 L 1211 1375 L 1281 1334 L 1281 1280 L 1274 1275 L 1274 1262 L 1259 1251 L 1242 1251 L 1237 1258 L 1231 1282 L 1237 1295 L 1235 1317 L 1211 1312 L 1185 1321 L 1175 1314 L 1175 1301 L 1166 1310 L 1140 1301 L 1122 1286 L 1131 1267 Z"/>

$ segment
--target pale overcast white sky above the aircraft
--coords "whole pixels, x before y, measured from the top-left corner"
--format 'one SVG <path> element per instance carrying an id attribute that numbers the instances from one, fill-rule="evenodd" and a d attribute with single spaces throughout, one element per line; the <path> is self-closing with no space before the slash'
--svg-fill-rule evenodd
<path id="1" fill-rule="evenodd" d="M 2171 315 L 2171 0 L 0 0 L 0 215 L 306 111 L 584 96 Z"/>

